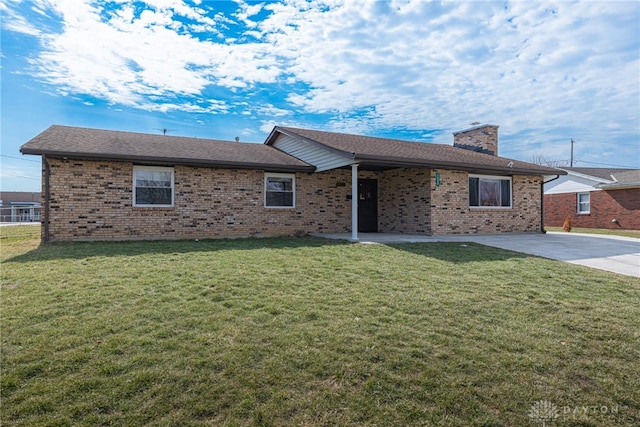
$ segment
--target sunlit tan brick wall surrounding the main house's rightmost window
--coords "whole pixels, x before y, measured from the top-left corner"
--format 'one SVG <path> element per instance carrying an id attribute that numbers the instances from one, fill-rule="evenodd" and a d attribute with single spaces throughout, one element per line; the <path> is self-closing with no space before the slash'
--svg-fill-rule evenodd
<path id="1" fill-rule="evenodd" d="M 435 174 L 440 172 L 440 186 Z M 438 234 L 540 232 L 541 176 L 514 176 L 512 208 L 470 208 L 467 172 L 431 171 L 431 230 Z"/>

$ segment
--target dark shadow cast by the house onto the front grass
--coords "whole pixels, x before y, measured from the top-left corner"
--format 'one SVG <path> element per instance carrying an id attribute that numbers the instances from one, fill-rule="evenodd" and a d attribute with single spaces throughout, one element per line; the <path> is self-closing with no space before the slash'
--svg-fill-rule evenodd
<path id="1" fill-rule="evenodd" d="M 298 249 L 350 246 L 352 243 L 318 237 L 273 237 L 203 240 L 140 240 L 119 242 L 65 242 L 41 244 L 37 249 L 6 259 L 4 262 L 34 262 L 90 257 L 139 256 L 150 254 L 185 254 L 218 251 L 263 249 Z M 381 245 L 414 255 L 451 263 L 503 261 L 530 258 L 531 255 L 474 243 L 427 242 Z"/>

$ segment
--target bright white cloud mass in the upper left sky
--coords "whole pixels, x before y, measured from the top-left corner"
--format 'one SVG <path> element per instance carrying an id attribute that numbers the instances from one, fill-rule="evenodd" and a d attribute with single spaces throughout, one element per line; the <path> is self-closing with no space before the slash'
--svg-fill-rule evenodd
<path id="1" fill-rule="evenodd" d="M 32 62 L 40 78 L 60 92 L 151 110 L 189 109 L 193 106 L 172 98 L 199 96 L 209 85 L 242 88 L 272 82 L 278 75 L 261 46 L 225 45 L 181 33 L 176 15 L 196 19 L 197 25 L 214 24 L 200 9 L 181 1 L 148 4 L 151 8 L 136 16 L 128 4 L 108 14 L 88 2 L 42 2 L 40 7 L 61 17 L 61 33 L 38 33 L 17 24 L 8 29 L 40 36 L 44 49 Z"/>

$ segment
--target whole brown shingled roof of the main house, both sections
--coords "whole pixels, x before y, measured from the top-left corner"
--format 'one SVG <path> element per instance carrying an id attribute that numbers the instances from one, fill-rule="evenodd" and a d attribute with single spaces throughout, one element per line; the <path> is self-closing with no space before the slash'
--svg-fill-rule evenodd
<path id="1" fill-rule="evenodd" d="M 276 126 L 264 144 L 54 125 L 24 144 L 23 154 L 148 164 L 313 172 L 315 167 L 271 145 L 278 134 L 352 159 L 363 169 L 441 168 L 496 175 L 565 175 L 545 166 L 445 144 Z"/>

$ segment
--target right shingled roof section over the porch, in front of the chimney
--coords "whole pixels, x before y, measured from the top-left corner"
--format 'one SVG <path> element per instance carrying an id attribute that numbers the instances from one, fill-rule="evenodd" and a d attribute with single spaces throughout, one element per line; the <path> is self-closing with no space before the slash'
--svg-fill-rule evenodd
<path id="1" fill-rule="evenodd" d="M 497 175 L 566 175 L 566 172 L 519 160 L 477 153 L 445 144 L 410 142 L 363 135 L 276 126 L 265 144 L 278 133 L 333 150 L 353 158 L 363 168 L 430 167 Z"/>

